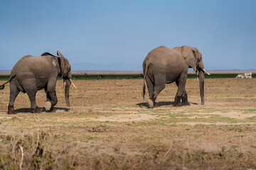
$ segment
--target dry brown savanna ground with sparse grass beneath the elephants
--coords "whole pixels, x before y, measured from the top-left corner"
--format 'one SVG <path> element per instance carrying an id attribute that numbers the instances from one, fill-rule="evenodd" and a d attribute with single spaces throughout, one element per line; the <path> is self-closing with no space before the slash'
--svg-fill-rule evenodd
<path id="1" fill-rule="evenodd" d="M 256 169 L 256 79 L 206 79 L 204 106 L 188 79 L 191 106 L 178 108 L 166 84 L 153 109 L 142 79 L 74 83 L 68 108 L 58 81 L 51 113 L 19 94 L 7 115 L 9 85 L 0 91 L 0 169 Z"/>

